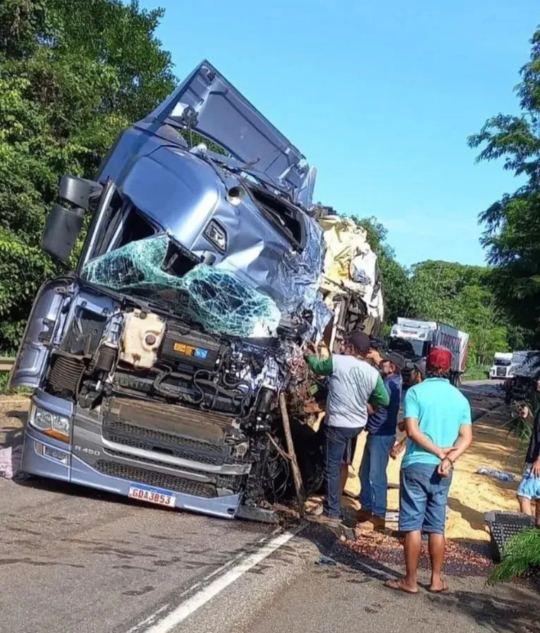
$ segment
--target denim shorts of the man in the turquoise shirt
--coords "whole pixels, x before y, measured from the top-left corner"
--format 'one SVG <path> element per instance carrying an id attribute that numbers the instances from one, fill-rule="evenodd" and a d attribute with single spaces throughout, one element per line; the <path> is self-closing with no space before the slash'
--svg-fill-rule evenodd
<path id="1" fill-rule="evenodd" d="M 443 534 L 452 476 L 440 477 L 437 466 L 411 464 L 400 474 L 400 532 Z"/>

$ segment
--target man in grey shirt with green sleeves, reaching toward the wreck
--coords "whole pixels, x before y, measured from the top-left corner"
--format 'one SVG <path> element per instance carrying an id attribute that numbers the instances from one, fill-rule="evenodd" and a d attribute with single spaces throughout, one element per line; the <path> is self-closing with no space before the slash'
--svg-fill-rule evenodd
<path id="1" fill-rule="evenodd" d="M 329 376 L 325 417 L 326 500 L 322 522 L 337 526 L 341 518 L 341 495 L 352 461 L 352 442 L 367 423 L 367 405 L 387 406 L 388 392 L 379 372 L 369 365 L 369 337 L 364 332 L 349 334 L 343 354 L 319 359 L 307 357 L 309 368 Z"/>

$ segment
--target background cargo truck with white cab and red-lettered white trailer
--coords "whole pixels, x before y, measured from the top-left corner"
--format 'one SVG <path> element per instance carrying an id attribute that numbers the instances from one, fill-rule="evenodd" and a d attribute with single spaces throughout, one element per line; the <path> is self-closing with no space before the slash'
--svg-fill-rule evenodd
<path id="1" fill-rule="evenodd" d="M 398 318 L 392 326 L 388 339 L 388 350 L 398 351 L 407 361 L 403 371 L 405 385 L 410 384 L 410 370 L 412 364 L 426 358 L 432 346 L 446 347 L 452 352 L 452 369 L 450 381 L 459 385 L 461 376 L 467 368 L 467 351 L 469 348 L 469 334 L 436 321 L 422 321 L 416 319 Z"/>

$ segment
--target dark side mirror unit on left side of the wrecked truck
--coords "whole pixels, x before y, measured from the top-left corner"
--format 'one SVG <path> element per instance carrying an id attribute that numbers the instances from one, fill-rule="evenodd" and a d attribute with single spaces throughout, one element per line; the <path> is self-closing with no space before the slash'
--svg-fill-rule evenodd
<path id="1" fill-rule="evenodd" d="M 73 205 L 73 208 L 54 205 L 51 209 L 42 239 L 42 248 L 46 253 L 67 263 L 82 229 L 85 210 L 90 200 L 99 197 L 102 191 L 103 187 L 99 183 L 76 176 L 62 176 L 59 197 L 63 202 Z"/>

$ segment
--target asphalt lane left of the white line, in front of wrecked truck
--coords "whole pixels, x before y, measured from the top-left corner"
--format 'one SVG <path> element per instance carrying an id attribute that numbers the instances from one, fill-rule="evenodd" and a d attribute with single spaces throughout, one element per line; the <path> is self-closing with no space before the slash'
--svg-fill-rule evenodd
<path id="1" fill-rule="evenodd" d="M 40 481 L 0 481 L 0 631 L 127 631 L 269 533 Z"/>

